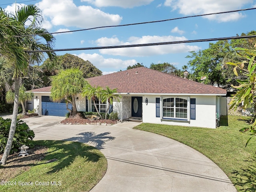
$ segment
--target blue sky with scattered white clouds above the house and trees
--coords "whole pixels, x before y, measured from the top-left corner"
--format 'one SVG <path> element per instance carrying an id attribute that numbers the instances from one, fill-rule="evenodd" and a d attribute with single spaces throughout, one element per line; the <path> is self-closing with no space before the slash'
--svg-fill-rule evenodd
<path id="1" fill-rule="evenodd" d="M 70 31 L 98 26 L 122 25 L 164 20 L 198 14 L 256 7 L 256 0 L 16 0 L 36 4 L 44 16 L 42 26 L 49 32 Z M 11 12 L 15 0 L 1 0 Z M 4 5 L 5 4 L 5 5 Z M 7 5 L 8 4 L 8 5 Z M 55 48 L 84 48 L 144 44 L 236 36 L 256 30 L 256 10 L 231 14 L 186 18 L 153 24 L 123 26 L 54 35 Z M 56 52 L 75 54 L 89 60 L 103 74 L 126 70 L 127 66 L 168 62 L 181 68 L 189 61 L 189 51 L 208 48 L 209 42 Z"/>

